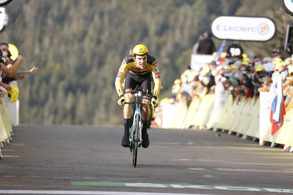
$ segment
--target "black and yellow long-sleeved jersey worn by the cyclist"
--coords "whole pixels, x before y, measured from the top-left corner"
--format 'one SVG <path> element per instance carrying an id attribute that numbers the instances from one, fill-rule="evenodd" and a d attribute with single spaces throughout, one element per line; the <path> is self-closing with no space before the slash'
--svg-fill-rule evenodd
<path id="1" fill-rule="evenodd" d="M 127 70 L 129 70 L 129 72 L 127 73 L 126 77 L 131 76 L 133 78 L 145 77 L 149 75 L 147 73 L 151 71 L 153 74 L 154 82 L 155 82 L 154 93 L 152 95 L 155 99 L 157 99 L 161 90 L 161 77 L 160 77 L 160 70 L 159 70 L 156 58 L 154 58 L 151 55 L 148 55 L 147 65 L 144 69 L 140 69 L 137 67 L 132 54 L 124 58 L 115 80 L 115 87 L 119 97 L 123 96 L 124 93 L 130 92 L 129 90 L 127 90 L 126 92 L 123 92 L 123 89 L 122 89 L 122 80 L 124 79 Z"/>

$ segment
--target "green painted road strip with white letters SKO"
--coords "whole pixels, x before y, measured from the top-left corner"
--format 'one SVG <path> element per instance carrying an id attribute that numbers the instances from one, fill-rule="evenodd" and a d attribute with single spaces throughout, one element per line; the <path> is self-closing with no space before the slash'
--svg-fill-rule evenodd
<path id="1" fill-rule="evenodd" d="M 71 182 L 74 186 L 115 186 L 115 187 L 160 187 L 160 188 L 193 188 L 193 189 L 221 189 L 237 191 L 266 191 L 293 193 L 293 189 L 283 188 L 260 188 L 240 186 L 213 186 L 213 185 L 190 185 L 190 184 L 154 184 L 154 183 L 123 183 L 123 182 Z"/>

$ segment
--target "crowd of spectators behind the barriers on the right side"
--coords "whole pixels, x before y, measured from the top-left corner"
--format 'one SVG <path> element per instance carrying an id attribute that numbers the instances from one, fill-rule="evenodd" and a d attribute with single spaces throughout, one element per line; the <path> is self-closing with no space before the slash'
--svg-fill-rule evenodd
<path id="1" fill-rule="evenodd" d="M 270 56 L 248 57 L 226 55 L 221 61 L 212 61 L 202 67 L 190 66 L 174 81 L 172 97 L 176 101 L 186 100 L 190 103 L 195 96 L 214 93 L 215 85 L 222 82 L 225 90 L 229 90 L 233 97 L 246 98 L 259 96 L 262 91 L 268 92 L 272 78 L 281 75 L 284 94 L 292 89 L 293 58 L 282 58 L 279 49 L 273 49 Z M 292 91 L 292 90 L 291 90 Z M 175 101 L 175 102 L 176 102 Z"/>

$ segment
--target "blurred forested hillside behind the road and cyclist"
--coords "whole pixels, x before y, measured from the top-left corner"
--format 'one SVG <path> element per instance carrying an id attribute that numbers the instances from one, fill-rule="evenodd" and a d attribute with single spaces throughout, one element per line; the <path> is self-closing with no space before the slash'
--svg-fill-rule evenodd
<path id="1" fill-rule="evenodd" d="M 284 48 L 293 22 L 276 0 L 14 0 L 5 8 L 1 42 L 17 46 L 25 59 L 20 70 L 39 68 L 18 81 L 21 124 L 121 125 L 115 77 L 136 44 L 157 59 L 163 98 L 217 16 L 271 18 L 273 39 L 240 42 L 246 54 L 262 57 Z M 219 48 L 222 40 L 213 40 Z"/>

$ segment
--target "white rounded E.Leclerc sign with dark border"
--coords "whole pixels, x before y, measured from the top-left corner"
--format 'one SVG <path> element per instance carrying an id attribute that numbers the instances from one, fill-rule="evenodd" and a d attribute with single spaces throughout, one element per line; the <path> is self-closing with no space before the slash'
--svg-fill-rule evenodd
<path id="1" fill-rule="evenodd" d="M 218 39 L 243 41 L 268 41 L 276 34 L 275 23 L 265 17 L 219 16 L 211 30 Z"/>

